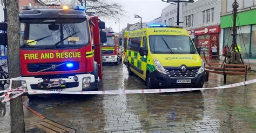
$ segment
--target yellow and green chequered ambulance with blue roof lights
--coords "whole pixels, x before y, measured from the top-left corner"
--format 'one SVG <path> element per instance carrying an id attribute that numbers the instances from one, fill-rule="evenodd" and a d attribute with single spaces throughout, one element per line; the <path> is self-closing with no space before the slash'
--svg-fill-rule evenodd
<path id="1" fill-rule="evenodd" d="M 147 88 L 204 85 L 204 62 L 182 27 L 148 25 L 130 31 L 124 52 L 129 75 L 145 80 Z"/>

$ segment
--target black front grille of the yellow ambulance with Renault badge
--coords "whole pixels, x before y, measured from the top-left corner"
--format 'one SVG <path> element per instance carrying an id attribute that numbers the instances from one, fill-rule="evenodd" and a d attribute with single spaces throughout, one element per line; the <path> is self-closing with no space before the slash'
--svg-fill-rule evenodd
<path id="1" fill-rule="evenodd" d="M 169 77 L 172 78 L 191 78 L 197 77 L 198 69 L 187 69 L 182 72 L 181 69 L 165 69 Z"/>

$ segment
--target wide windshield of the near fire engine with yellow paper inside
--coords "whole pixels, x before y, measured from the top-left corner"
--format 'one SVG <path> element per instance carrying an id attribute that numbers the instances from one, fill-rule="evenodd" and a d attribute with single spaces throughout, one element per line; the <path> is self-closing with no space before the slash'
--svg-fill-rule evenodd
<path id="1" fill-rule="evenodd" d="M 86 19 L 21 21 L 21 47 L 65 48 L 89 44 Z"/>

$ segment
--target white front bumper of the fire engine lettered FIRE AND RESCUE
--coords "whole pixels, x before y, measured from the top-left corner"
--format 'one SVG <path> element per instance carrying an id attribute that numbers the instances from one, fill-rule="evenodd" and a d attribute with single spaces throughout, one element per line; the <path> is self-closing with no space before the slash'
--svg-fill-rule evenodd
<path id="1" fill-rule="evenodd" d="M 90 73 L 61 79 L 22 77 L 22 87 L 28 91 L 26 94 L 42 94 L 33 91 L 92 91 L 98 88 L 98 84 L 98 79 L 95 80 L 95 76 Z"/>

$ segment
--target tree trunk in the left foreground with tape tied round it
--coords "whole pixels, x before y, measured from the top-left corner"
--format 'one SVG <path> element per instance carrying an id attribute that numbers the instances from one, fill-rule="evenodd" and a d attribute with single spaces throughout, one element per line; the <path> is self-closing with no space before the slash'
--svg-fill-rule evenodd
<path id="1" fill-rule="evenodd" d="M 19 64 L 19 13 L 18 0 L 7 1 L 8 13 L 8 72 L 9 78 L 21 76 Z M 12 88 L 21 86 L 21 82 L 13 81 Z M 10 101 L 11 132 L 25 132 L 22 97 Z"/>

